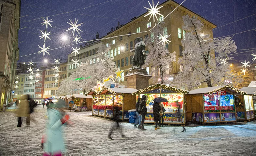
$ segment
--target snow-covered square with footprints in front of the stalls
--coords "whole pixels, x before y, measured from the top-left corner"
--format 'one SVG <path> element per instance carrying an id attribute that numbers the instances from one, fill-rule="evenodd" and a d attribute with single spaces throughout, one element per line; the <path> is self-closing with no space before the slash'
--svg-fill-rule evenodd
<path id="1" fill-rule="evenodd" d="M 42 155 L 41 136 L 45 133 L 47 121 L 46 108 L 35 108 L 30 127 L 16 128 L 17 117 L 14 112 L 0 112 L 0 155 L 36 156 Z M 73 126 L 64 128 L 66 143 L 65 155 L 255 155 L 256 124 L 233 126 L 198 126 L 163 127 L 154 130 L 153 125 L 146 125 L 147 131 L 133 128 L 130 123 L 121 123 L 127 140 L 120 139 L 118 132 L 107 140 L 107 133 L 112 121 L 92 117 L 91 112 L 68 112 Z"/>

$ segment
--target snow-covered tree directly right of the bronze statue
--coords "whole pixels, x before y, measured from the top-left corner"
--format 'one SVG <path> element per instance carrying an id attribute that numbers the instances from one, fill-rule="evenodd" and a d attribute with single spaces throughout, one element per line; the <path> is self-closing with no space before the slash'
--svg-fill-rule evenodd
<path id="1" fill-rule="evenodd" d="M 158 24 L 152 31 L 152 36 L 144 39 L 146 47 L 149 49 L 149 53 L 146 56 L 145 66 L 151 66 L 151 75 L 157 76 L 160 71 L 161 84 L 169 84 L 170 71 L 172 70 L 172 62 L 176 61 L 175 52 L 169 53 L 168 48 L 164 43 L 160 42 L 160 36 L 168 36 L 167 32 L 164 32 L 163 24 Z M 154 78 L 155 82 L 158 82 L 158 78 Z"/>

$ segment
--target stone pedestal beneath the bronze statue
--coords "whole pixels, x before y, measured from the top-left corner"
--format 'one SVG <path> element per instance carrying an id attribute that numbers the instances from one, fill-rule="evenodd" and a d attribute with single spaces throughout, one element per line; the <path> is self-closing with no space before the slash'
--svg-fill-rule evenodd
<path id="1" fill-rule="evenodd" d="M 130 70 L 128 75 L 124 76 L 127 80 L 127 88 L 135 88 L 137 90 L 149 87 L 149 79 L 152 77 L 143 68 Z"/>

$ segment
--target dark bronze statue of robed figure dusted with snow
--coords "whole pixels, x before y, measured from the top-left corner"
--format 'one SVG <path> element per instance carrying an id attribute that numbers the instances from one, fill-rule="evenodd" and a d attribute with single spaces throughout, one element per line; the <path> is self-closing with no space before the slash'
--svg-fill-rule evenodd
<path id="1" fill-rule="evenodd" d="M 136 40 L 137 40 L 137 43 L 135 45 L 135 48 L 133 50 L 130 50 L 130 52 L 135 51 L 133 55 L 133 66 L 131 67 L 131 69 L 138 68 L 138 67 L 141 68 L 141 66 L 145 64 L 145 60 L 146 60 L 145 58 L 146 45 L 140 37 L 137 37 Z"/>

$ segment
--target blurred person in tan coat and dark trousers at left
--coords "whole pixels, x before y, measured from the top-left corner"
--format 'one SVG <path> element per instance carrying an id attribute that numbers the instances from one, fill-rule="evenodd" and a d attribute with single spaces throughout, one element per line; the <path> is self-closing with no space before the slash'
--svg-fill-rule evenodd
<path id="1" fill-rule="evenodd" d="M 16 111 L 16 115 L 18 117 L 17 127 L 21 127 L 22 117 L 28 117 L 29 112 L 30 112 L 30 108 L 29 108 L 29 102 L 28 102 L 28 95 L 23 95 L 21 97 L 21 105 L 19 106 L 18 110 Z M 28 120 L 28 118 L 27 118 L 27 120 Z"/>

